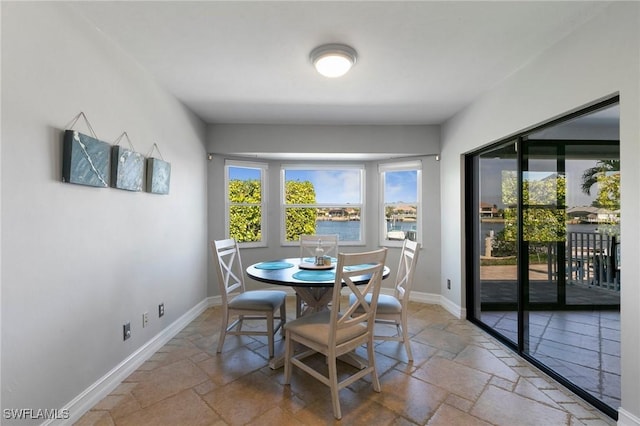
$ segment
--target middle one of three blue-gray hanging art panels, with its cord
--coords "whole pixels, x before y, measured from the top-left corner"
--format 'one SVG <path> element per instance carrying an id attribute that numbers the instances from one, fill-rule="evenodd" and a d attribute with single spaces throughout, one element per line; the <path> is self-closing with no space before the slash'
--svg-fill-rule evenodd
<path id="1" fill-rule="evenodd" d="M 130 150 L 118 145 L 123 136 L 127 138 Z M 111 148 L 111 186 L 127 191 L 142 191 L 143 179 L 144 156 L 135 152 L 129 135 L 123 132 Z"/>

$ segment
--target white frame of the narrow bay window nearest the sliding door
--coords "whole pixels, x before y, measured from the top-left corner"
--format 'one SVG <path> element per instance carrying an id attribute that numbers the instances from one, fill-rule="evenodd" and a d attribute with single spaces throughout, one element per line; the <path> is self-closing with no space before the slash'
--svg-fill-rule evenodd
<path id="1" fill-rule="evenodd" d="M 387 172 L 401 172 L 401 171 L 416 171 L 416 242 L 422 244 L 422 217 L 423 217 L 423 209 L 422 209 L 422 160 L 412 160 L 412 161 L 398 161 L 398 162 L 389 162 L 389 163 L 379 163 L 378 164 L 378 176 L 379 176 L 379 188 L 380 188 L 380 222 L 379 222 L 379 244 L 383 247 L 402 247 L 403 241 L 401 240 L 388 240 L 387 229 L 386 229 L 386 216 L 385 216 L 385 208 L 387 205 L 400 205 L 400 204 L 409 204 L 410 202 L 395 202 L 395 203 L 387 203 L 385 200 L 385 184 L 386 184 L 386 174 Z M 413 204 L 413 203 L 411 203 Z"/>

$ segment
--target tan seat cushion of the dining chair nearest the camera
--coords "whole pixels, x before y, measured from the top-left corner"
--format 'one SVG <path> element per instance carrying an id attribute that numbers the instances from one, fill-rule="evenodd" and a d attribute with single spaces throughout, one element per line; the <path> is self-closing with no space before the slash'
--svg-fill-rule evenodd
<path id="1" fill-rule="evenodd" d="M 284 329 L 313 342 L 327 345 L 329 344 L 330 322 L 331 312 L 322 311 L 289 321 L 284 325 Z M 336 335 L 336 343 L 339 345 L 366 332 L 367 327 L 364 324 L 355 324 L 352 327 L 340 329 Z"/>

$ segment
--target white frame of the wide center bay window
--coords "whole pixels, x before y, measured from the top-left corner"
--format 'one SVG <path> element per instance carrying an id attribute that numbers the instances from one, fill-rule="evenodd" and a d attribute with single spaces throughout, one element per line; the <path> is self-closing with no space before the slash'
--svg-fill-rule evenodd
<path id="1" fill-rule="evenodd" d="M 287 170 L 358 170 L 360 172 L 360 203 L 340 204 L 340 203 L 317 203 L 317 204 L 285 204 L 285 172 Z M 292 207 L 348 207 L 360 209 L 360 239 L 359 240 L 339 240 L 341 246 L 361 246 L 366 243 L 366 165 L 356 163 L 287 163 L 280 165 L 280 244 L 282 246 L 297 246 L 298 241 L 287 241 L 287 215 L 286 209 Z"/>

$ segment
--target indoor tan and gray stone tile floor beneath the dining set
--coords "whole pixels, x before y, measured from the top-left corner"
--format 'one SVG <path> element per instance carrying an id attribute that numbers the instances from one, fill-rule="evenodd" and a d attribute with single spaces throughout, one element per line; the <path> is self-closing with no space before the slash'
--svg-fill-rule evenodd
<path id="1" fill-rule="evenodd" d="M 382 392 L 369 378 L 343 389 L 338 422 L 328 387 L 297 369 L 282 384 L 264 338 L 230 336 L 216 354 L 220 316 L 207 309 L 76 425 L 615 425 L 473 324 L 420 303 L 410 304 L 414 362 L 378 342 Z"/>

